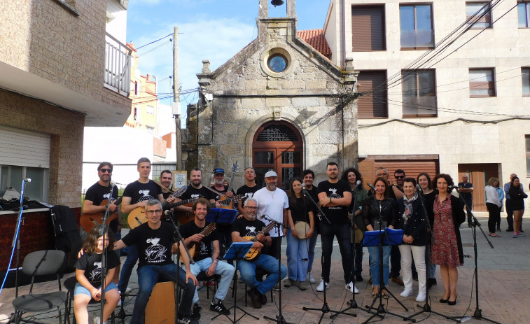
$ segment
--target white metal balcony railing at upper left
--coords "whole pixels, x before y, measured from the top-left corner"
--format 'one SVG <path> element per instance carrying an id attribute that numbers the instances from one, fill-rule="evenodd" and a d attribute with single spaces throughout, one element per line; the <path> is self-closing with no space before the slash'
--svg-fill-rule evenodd
<path id="1" fill-rule="evenodd" d="M 104 86 L 124 96 L 131 87 L 131 49 L 109 34 L 105 36 Z"/>

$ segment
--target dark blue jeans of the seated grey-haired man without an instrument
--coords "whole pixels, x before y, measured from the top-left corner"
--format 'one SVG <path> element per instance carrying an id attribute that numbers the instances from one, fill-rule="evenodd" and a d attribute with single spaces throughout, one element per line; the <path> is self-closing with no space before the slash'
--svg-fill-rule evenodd
<path id="1" fill-rule="evenodd" d="M 175 281 L 176 265 L 174 263 L 169 265 L 144 265 L 144 267 L 138 269 L 139 290 L 137 299 L 134 301 L 134 308 L 132 309 L 131 324 L 140 324 L 142 322 L 147 302 L 160 276 Z M 182 270 L 179 272 L 179 287 L 183 288 L 179 314 L 190 315 L 195 285 L 193 285 L 191 279 L 186 283 L 186 272 Z"/>

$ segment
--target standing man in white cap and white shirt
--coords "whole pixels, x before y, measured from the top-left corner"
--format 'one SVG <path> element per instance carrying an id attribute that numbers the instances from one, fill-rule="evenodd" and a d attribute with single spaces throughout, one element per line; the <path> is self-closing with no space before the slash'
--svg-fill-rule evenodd
<path id="1" fill-rule="evenodd" d="M 284 226 L 287 221 L 287 208 L 289 206 L 287 194 L 284 190 L 277 188 L 278 175 L 270 170 L 265 174 L 265 187 L 256 191 L 253 198 L 258 202 L 258 219 L 265 225 L 274 220 L 281 223 L 281 233 L 278 233 L 277 227 L 274 227 L 269 233 L 272 238 L 272 244 L 269 246 L 267 253 L 274 258 L 279 259 L 278 246 L 281 245 L 281 237 L 287 234 Z M 267 216 L 267 217 L 264 217 Z"/>

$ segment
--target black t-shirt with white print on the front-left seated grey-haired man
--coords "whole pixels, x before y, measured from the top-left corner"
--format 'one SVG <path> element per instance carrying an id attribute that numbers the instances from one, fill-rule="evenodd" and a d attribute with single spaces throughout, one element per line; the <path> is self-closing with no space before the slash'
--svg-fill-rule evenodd
<path id="1" fill-rule="evenodd" d="M 148 223 L 144 223 L 130 230 L 122 240 L 127 246 L 137 244 L 139 268 L 144 265 L 172 263 L 173 225 L 167 222 L 161 222 L 156 230 L 149 227 Z"/>

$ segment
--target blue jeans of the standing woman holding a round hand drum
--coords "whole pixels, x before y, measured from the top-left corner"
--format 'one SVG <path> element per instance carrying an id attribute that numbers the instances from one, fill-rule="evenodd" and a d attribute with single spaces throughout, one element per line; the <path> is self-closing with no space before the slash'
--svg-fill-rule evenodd
<path id="1" fill-rule="evenodd" d="M 291 228 L 287 230 L 287 267 L 291 280 L 305 281 L 307 276 L 307 260 L 309 259 L 309 239 L 293 237 Z"/>

